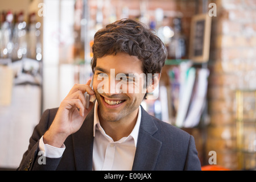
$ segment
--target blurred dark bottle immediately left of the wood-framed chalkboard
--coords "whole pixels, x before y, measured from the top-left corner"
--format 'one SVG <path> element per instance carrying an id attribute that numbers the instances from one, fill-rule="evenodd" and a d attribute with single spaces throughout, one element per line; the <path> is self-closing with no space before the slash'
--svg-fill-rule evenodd
<path id="1" fill-rule="evenodd" d="M 185 59 L 186 38 L 181 32 L 181 18 L 174 18 L 174 36 L 168 47 L 168 59 Z"/>

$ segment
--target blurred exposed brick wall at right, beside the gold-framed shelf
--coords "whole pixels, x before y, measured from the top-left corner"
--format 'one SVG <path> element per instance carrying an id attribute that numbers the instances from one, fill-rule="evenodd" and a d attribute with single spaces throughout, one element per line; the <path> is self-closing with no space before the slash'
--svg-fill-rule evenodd
<path id="1" fill-rule="evenodd" d="M 216 0 L 210 47 L 207 150 L 217 164 L 238 168 L 236 89 L 256 88 L 256 1 Z M 255 160 L 255 159 L 254 159 Z"/>

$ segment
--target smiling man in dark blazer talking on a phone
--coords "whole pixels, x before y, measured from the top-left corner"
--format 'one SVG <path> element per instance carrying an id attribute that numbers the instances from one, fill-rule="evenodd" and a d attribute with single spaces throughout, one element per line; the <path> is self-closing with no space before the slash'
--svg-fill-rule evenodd
<path id="1" fill-rule="evenodd" d="M 161 40 L 122 19 L 96 32 L 92 49 L 93 89 L 76 84 L 44 111 L 18 169 L 200 170 L 193 137 L 141 106 L 167 57 Z M 96 96 L 88 109 L 85 92 Z"/>

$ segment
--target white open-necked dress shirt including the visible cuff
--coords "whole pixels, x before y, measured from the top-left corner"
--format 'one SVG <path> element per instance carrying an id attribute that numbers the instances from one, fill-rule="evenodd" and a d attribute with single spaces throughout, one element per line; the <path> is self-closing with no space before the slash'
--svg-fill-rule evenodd
<path id="1" fill-rule="evenodd" d="M 98 119 L 98 102 L 94 107 L 94 127 L 93 127 L 93 170 L 123 170 L 130 171 L 133 167 L 133 160 L 137 146 L 139 126 L 141 123 L 141 106 L 137 122 L 128 137 L 123 137 L 115 141 L 109 137 L 100 125 Z M 44 152 L 48 158 L 60 158 L 65 150 L 65 145 L 61 148 L 43 143 L 43 136 L 39 141 L 39 150 Z"/>

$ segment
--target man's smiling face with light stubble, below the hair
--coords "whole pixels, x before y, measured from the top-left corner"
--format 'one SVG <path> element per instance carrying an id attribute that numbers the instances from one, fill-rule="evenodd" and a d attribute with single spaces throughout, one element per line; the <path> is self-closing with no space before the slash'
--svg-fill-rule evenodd
<path id="1" fill-rule="evenodd" d="M 110 70 L 114 69 L 114 77 L 110 76 Z M 94 71 L 93 89 L 96 93 L 98 101 L 98 110 L 102 119 L 109 122 L 120 121 L 121 119 L 129 119 L 131 115 L 137 113 L 139 105 L 144 98 L 144 92 L 134 92 L 135 89 L 142 90 L 146 79 L 129 78 L 129 75 L 141 75 L 142 61 L 137 56 L 130 56 L 127 53 L 117 53 L 117 55 L 107 55 L 97 59 Z M 126 75 L 126 77 L 116 78 L 118 75 Z M 104 92 L 98 92 L 99 84 L 102 78 L 108 78 L 107 84 L 103 86 Z M 104 80 L 105 80 L 104 78 Z M 131 80 L 132 79 L 132 80 Z M 105 80 L 105 81 L 106 81 Z M 120 86 L 120 82 L 127 81 L 127 84 Z M 118 85 L 118 86 L 117 86 Z M 124 88 L 124 86 L 126 87 Z M 133 87 L 133 89 L 131 89 Z M 133 92 L 129 93 L 130 90 Z M 122 92 L 126 89 L 126 92 Z M 114 90 L 114 92 L 113 92 Z"/>

